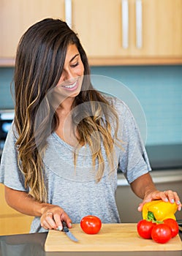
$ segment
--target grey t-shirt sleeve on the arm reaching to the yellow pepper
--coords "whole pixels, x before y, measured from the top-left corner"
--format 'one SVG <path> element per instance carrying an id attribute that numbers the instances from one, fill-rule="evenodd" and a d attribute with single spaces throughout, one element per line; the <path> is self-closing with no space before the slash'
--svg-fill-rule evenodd
<path id="1" fill-rule="evenodd" d="M 131 184 L 138 177 L 148 173 L 151 166 L 131 110 L 124 102 L 120 101 L 116 103 L 116 109 L 119 120 L 118 134 L 123 141 L 122 146 L 124 148 L 119 156 L 118 169 L 124 173 L 127 181 Z"/>

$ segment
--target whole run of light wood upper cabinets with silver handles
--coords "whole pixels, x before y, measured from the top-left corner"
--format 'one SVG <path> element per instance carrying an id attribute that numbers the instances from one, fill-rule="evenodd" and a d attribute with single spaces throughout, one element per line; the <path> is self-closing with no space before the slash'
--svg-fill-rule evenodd
<path id="1" fill-rule="evenodd" d="M 1 0 L 0 58 L 15 57 L 26 29 L 46 17 L 77 32 L 90 64 L 182 64 L 181 0 Z"/>

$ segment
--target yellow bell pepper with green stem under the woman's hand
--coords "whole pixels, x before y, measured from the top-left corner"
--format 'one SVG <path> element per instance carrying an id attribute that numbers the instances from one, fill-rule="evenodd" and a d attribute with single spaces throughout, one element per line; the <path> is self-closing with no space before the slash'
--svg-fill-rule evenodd
<path id="1" fill-rule="evenodd" d="M 145 203 L 143 206 L 143 219 L 153 222 L 162 222 L 164 219 L 175 219 L 177 208 L 176 203 L 154 200 Z"/>

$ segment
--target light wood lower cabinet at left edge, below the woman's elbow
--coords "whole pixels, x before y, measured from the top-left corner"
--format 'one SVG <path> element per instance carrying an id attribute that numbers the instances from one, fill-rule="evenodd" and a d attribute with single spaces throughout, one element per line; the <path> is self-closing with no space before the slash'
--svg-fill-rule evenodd
<path id="1" fill-rule="evenodd" d="M 29 233 L 34 217 L 20 214 L 7 205 L 3 184 L 0 184 L 0 206 L 0 236 Z"/>

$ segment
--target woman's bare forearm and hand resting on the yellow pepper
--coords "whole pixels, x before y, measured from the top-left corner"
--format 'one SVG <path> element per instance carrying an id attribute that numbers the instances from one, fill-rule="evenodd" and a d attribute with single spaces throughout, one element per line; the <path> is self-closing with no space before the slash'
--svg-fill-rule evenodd
<path id="1" fill-rule="evenodd" d="M 181 202 L 178 194 L 172 190 L 167 190 L 165 192 L 157 190 L 149 173 L 146 173 L 133 181 L 131 187 L 134 194 L 143 199 L 143 203 L 140 203 L 138 211 L 142 211 L 144 203 L 159 199 L 166 202 L 169 200 L 170 203 L 177 203 L 178 210 L 181 211 Z"/>

